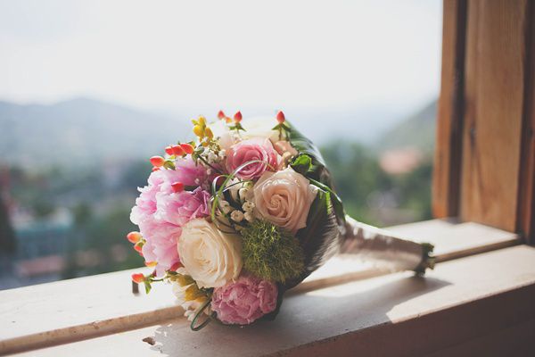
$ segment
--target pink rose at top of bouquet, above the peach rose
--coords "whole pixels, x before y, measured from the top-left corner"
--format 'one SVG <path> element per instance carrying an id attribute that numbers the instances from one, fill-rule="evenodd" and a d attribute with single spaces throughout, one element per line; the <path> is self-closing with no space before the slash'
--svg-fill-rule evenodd
<path id="1" fill-rule="evenodd" d="M 249 140 L 243 140 L 232 145 L 226 156 L 226 170 L 233 172 L 246 162 L 260 160 L 268 162 L 274 170 L 279 169 L 282 162 L 281 155 L 276 153 L 269 139 L 254 137 Z M 268 165 L 262 162 L 253 162 L 236 173 L 239 179 L 256 179 L 262 176 L 266 170 L 271 170 Z"/>

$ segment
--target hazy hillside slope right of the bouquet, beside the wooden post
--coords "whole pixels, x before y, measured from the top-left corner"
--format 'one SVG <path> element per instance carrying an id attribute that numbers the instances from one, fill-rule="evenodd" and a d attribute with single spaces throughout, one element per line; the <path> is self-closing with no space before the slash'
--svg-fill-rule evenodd
<path id="1" fill-rule="evenodd" d="M 384 152 L 413 146 L 425 155 L 432 154 L 435 141 L 436 112 L 437 101 L 435 100 L 420 112 L 416 112 L 389 130 L 379 141 L 378 150 Z"/>

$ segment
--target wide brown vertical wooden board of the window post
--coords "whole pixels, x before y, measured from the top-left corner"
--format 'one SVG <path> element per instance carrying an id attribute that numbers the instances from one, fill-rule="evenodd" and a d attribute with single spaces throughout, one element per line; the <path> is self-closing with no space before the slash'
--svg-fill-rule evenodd
<path id="1" fill-rule="evenodd" d="M 468 2 L 461 220 L 514 231 L 527 1 Z"/>

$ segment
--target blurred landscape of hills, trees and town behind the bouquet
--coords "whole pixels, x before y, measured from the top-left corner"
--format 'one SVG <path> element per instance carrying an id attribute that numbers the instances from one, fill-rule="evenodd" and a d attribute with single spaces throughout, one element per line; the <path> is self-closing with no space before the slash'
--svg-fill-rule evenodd
<path id="1" fill-rule="evenodd" d="M 431 218 L 435 112 L 433 101 L 388 129 L 320 141 L 352 217 L 382 227 Z M 0 102 L 0 289 L 142 266 L 129 212 L 148 157 L 188 122 L 89 99 Z M 365 122 L 347 125 L 373 127 Z"/>

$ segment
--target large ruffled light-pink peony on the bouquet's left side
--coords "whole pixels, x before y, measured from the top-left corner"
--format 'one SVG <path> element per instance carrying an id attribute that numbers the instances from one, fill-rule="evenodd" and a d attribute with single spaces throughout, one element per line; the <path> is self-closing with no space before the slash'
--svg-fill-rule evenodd
<path id="1" fill-rule="evenodd" d="M 146 262 L 158 262 L 156 272 L 162 275 L 179 262 L 177 238 L 189 220 L 210 215 L 210 194 L 201 187 L 193 192 L 174 192 L 172 184 L 182 182 L 197 186 L 195 180 L 205 180 L 202 165 L 195 166 L 191 157 L 179 159 L 176 170 L 156 170 L 148 186 L 139 188 L 141 195 L 130 213 L 130 220 L 139 226 L 145 243 L 142 253 Z"/>

